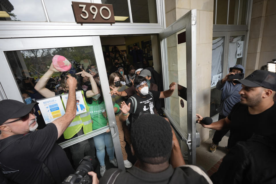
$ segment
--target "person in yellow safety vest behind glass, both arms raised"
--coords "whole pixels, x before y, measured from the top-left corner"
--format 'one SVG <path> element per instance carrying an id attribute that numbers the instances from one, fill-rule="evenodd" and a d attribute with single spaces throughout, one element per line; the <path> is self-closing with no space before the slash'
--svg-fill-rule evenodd
<path id="1" fill-rule="evenodd" d="M 55 95 L 59 95 L 59 93 L 55 93 L 53 91 L 50 91 L 45 87 L 47 84 L 49 78 L 55 73 L 59 72 L 57 70 L 58 67 L 55 67 L 54 64 L 52 63 L 49 70 L 40 78 L 40 80 L 37 82 L 35 85 L 35 89 L 44 97 L 49 98 L 49 97 L 54 97 Z M 98 88 L 97 84 L 94 81 L 94 78 L 91 74 L 82 71 L 76 74 L 81 74 L 82 77 L 88 77 L 91 83 L 92 90 L 88 91 L 81 91 L 82 93 L 82 100 L 84 101 L 85 109 L 89 109 L 87 107 L 87 103 L 85 100 L 84 96 L 87 97 L 93 97 L 94 95 L 98 94 Z M 61 79 L 60 86 L 63 88 L 64 93 L 68 91 L 68 84 L 67 84 L 67 77 L 64 77 Z M 77 89 L 77 87 L 75 88 Z M 76 92 L 78 93 L 78 92 Z M 63 97 L 64 95 L 62 95 Z M 78 95 L 79 96 L 79 95 Z M 62 103 L 64 104 L 64 107 L 66 107 L 66 101 L 64 100 L 65 98 L 62 98 Z M 79 99 L 79 98 L 77 98 Z M 75 103 L 76 106 L 76 103 Z M 75 111 L 76 114 L 76 111 Z M 86 134 L 91 132 L 92 129 L 92 123 L 93 121 L 91 120 L 90 113 L 85 112 L 82 114 L 77 114 L 72 123 L 68 126 L 68 128 L 64 131 L 63 135 L 65 139 L 71 139 L 78 137 L 80 135 Z M 86 156 L 95 156 L 95 150 L 94 150 L 94 141 L 93 139 L 87 139 L 85 141 L 79 142 L 78 144 L 70 146 L 70 151 L 72 154 L 72 159 L 74 161 L 75 167 L 78 166 L 78 163 L 81 161 L 81 159 Z"/>

